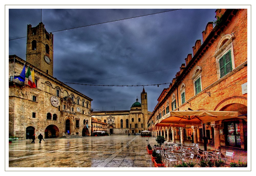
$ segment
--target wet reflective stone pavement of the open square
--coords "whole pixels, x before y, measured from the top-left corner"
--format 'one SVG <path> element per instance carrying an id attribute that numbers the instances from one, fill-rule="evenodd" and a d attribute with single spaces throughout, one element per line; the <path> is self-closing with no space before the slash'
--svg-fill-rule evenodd
<path id="1" fill-rule="evenodd" d="M 154 167 L 146 137 L 111 135 L 9 144 L 9 167 Z M 150 137 L 150 141 L 155 142 Z M 152 144 L 151 144 L 152 145 Z"/>

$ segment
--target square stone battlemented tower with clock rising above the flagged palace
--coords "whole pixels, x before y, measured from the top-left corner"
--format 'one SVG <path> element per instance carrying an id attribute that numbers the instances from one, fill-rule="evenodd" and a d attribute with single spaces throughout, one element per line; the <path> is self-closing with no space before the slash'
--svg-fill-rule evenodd
<path id="1" fill-rule="evenodd" d="M 34 28 L 28 25 L 26 55 L 27 62 L 53 76 L 53 34 L 42 22 Z"/>

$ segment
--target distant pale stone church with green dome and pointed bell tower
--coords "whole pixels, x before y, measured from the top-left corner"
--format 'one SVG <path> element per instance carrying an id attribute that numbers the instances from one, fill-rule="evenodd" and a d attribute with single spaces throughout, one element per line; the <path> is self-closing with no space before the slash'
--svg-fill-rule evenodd
<path id="1" fill-rule="evenodd" d="M 147 110 L 147 92 L 143 88 L 141 92 L 141 103 L 132 104 L 127 111 L 98 111 L 92 112 L 93 118 L 107 123 L 109 134 L 135 134 L 147 129 L 147 121 L 151 112 Z"/>

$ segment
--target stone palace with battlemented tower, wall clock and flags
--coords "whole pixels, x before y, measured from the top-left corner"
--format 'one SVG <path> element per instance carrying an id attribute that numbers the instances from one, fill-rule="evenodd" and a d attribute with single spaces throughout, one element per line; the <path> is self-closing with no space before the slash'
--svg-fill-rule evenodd
<path id="1" fill-rule="evenodd" d="M 91 136 L 92 99 L 53 77 L 53 34 L 42 22 L 27 26 L 26 55 L 9 56 L 9 136 Z M 20 78 L 23 69 L 34 87 Z"/>

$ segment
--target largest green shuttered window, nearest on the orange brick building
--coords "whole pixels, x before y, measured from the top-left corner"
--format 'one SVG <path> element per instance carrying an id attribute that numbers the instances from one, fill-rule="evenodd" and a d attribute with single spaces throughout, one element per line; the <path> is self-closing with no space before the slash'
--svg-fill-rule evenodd
<path id="1" fill-rule="evenodd" d="M 225 55 L 223 55 L 220 58 L 219 64 L 220 64 L 220 77 L 223 77 L 232 71 L 231 50 L 229 50 Z"/>

